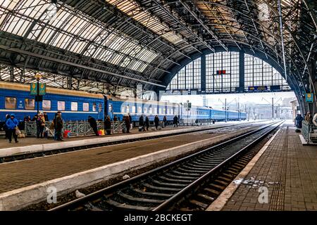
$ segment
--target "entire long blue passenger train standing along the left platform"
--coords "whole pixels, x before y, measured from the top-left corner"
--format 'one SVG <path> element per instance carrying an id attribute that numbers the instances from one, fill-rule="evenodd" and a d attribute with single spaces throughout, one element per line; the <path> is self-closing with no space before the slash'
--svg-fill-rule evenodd
<path id="1" fill-rule="evenodd" d="M 168 122 L 178 115 L 184 120 L 225 120 L 224 110 L 193 106 L 187 111 L 178 103 L 163 101 L 149 101 L 144 99 L 115 97 L 102 94 L 90 94 L 85 91 L 56 89 L 47 87 L 43 101 L 39 103 L 39 111 L 46 112 L 49 120 L 53 120 L 57 111 L 61 111 L 63 120 L 87 120 L 91 115 L 97 120 L 104 120 L 106 116 L 116 115 L 120 120 L 130 113 L 132 122 L 137 124 L 140 115 L 146 115 L 150 121 L 155 115 L 163 120 L 166 116 Z M 15 113 L 16 118 L 23 121 L 24 117 L 32 117 L 37 113 L 35 96 L 30 95 L 30 85 L 0 82 L 0 120 L 4 121 L 6 114 Z M 227 111 L 227 120 L 246 120 L 247 114 L 237 111 Z"/>

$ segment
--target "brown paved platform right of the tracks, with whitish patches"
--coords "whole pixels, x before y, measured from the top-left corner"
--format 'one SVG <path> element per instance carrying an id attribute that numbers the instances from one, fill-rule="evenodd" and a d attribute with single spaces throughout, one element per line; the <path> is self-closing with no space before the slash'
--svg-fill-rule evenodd
<path id="1" fill-rule="evenodd" d="M 207 210 L 317 210 L 317 148 L 285 123 Z"/>

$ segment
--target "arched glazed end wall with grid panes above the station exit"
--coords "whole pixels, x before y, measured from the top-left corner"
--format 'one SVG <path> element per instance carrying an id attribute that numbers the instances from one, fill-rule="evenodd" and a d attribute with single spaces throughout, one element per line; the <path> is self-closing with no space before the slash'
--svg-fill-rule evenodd
<path id="1" fill-rule="evenodd" d="M 240 56 L 239 52 L 218 52 L 211 53 L 204 58 L 206 74 L 201 74 L 201 58 L 188 63 L 178 71 L 171 79 L 166 90 L 179 91 L 204 91 L 204 93 L 225 93 L 236 92 L 240 86 Z M 280 72 L 275 70 L 264 60 L 244 54 L 244 91 L 249 87 L 267 86 L 269 91 L 272 86 L 280 86 L 279 91 L 289 91 L 290 86 L 282 77 Z M 223 72 L 224 71 L 224 72 Z M 220 74 L 221 73 L 221 74 Z M 205 88 L 201 86 L 201 77 L 206 77 Z"/>

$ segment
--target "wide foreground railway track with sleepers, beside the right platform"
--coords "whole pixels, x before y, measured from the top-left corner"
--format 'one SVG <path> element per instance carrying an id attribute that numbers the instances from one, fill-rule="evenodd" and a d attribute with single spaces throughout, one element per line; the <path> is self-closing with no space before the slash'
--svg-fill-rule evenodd
<path id="1" fill-rule="evenodd" d="M 230 179 L 225 175 L 216 179 L 218 184 L 211 184 L 211 180 L 221 176 L 220 172 L 228 169 L 229 165 L 234 166 L 235 163 L 241 162 L 244 153 L 256 146 L 281 123 L 263 126 L 51 210 L 204 209 L 206 201 L 212 202 L 224 189 L 223 185 L 230 183 Z M 247 160 L 244 159 L 243 162 L 246 163 Z M 237 172 L 239 169 L 235 167 L 235 170 Z M 232 178 L 233 175 L 230 176 Z M 218 188 L 218 191 L 206 188 L 207 184 Z M 205 193 L 197 192 L 201 189 L 204 189 Z M 195 206 L 192 209 L 186 204 L 184 206 L 186 201 Z"/>

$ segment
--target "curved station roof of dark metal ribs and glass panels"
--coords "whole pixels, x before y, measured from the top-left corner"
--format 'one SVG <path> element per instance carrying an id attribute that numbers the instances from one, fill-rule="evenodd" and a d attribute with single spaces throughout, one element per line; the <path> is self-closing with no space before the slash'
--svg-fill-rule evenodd
<path id="1" fill-rule="evenodd" d="M 314 6 L 313 0 L 0 0 L 0 63 L 159 90 L 184 60 L 235 48 L 275 61 L 300 95 L 314 91 L 306 88 L 317 56 Z"/>

